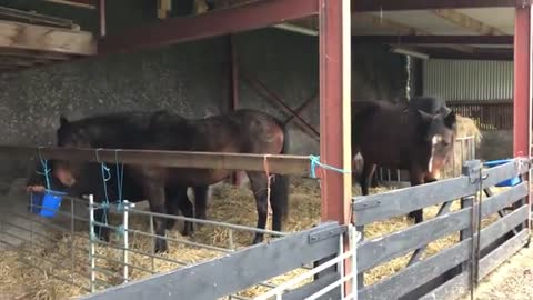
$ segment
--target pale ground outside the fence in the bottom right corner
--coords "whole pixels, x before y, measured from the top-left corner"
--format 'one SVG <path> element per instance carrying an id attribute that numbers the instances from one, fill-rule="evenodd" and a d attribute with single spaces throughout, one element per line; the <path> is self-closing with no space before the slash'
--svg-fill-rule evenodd
<path id="1" fill-rule="evenodd" d="M 502 263 L 477 287 L 476 300 L 533 299 L 533 246 Z M 470 299 L 470 293 L 463 300 Z"/>

